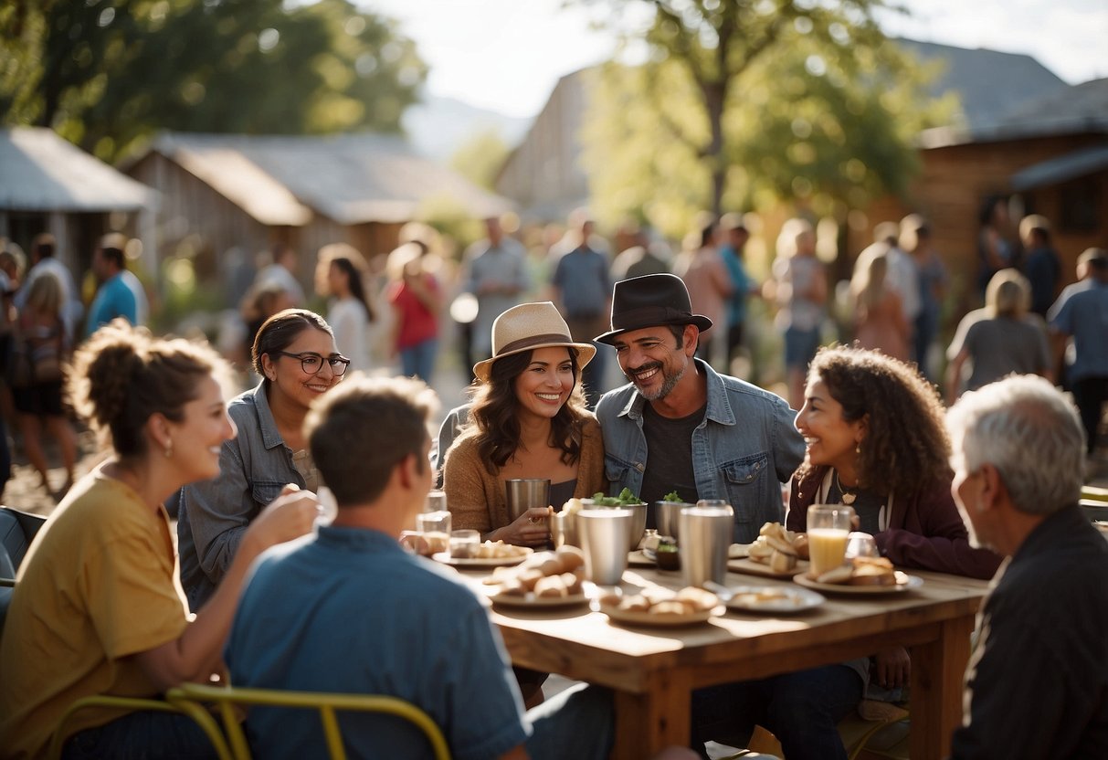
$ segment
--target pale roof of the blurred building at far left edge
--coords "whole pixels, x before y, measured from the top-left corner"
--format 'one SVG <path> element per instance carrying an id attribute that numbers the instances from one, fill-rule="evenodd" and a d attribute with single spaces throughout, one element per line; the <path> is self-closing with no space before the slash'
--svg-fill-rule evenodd
<path id="1" fill-rule="evenodd" d="M 0 208 L 25 212 L 136 210 L 150 187 L 45 127 L 0 130 Z"/>

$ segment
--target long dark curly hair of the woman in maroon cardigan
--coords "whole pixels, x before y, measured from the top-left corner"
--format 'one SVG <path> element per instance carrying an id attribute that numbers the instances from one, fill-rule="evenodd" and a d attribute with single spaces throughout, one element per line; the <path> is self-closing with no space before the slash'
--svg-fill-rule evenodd
<path id="1" fill-rule="evenodd" d="M 943 404 L 915 367 L 878 351 L 835 346 L 820 349 L 808 377 L 823 381 L 847 422 L 869 415 L 855 465 L 862 487 L 905 494 L 950 477 Z M 803 480 L 813 470 L 806 459 L 797 475 Z"/>

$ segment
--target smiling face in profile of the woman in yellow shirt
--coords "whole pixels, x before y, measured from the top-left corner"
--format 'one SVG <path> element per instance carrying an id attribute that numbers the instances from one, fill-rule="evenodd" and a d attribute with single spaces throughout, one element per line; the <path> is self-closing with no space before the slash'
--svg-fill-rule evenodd
<path id="1" fill-rule="evenodd" d="M 182 407 L 179 422 L 167 421 L 173 464 L 183 483 L 219 474 L 219 451 L 224 441 L 235 438 L 235 423 L 227 417 L 219 383 L 211 376 L 198 384 L 197 398 Z M 160 455 L 160 454 L 158 454 Z"/>

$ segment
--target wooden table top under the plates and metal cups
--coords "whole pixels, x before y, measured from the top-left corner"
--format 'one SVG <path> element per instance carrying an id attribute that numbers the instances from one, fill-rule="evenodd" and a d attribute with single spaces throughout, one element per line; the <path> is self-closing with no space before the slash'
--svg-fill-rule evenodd
<path id="1" fill-rule="evenodd" d="M 728 610 L 702 625 L 648 628 L 609 622 L 579 605 L 521 609 L 496 605 L 500 627 L 516 665 L 560 672 L 625 691 L 643 692 L 654 676 L 674 668 L 691 674 L 695 686 L 812 667 L 872 654 L 882 646 L 912 646 L 934 640 L 948 620 L 976 613 L 988 584 L 942 573 L 912 571 L 923 578 L 919 589 L 874 596 L 824 594 L 811 610 L 766 615 Z M 484 593 L 485 573 L 463 572 Z M 727 585 L 780 586 L 791 581 L 729 572 Z M 661 586 L 678 589 L 680 573 L 628 568 L 625 592 Z"/>

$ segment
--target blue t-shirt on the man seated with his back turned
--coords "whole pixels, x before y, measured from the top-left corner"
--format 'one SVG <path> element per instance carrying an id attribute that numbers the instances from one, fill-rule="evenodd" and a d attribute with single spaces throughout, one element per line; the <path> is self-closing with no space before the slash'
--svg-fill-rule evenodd
<path id="1" fill-rule="evenodd" d="M 459 760 L 494 758 L 531 731 L 500 635 L 471 590 L 382 533 L 321 527 L 258 561 L 226 648 L 236 686 L 391 695 L 423 709 Z M 430 758 L 407 721 L 342 712 L 350 757 Z M 252 708 L 264 758 L 322 751 L 314 711 Z"/>

